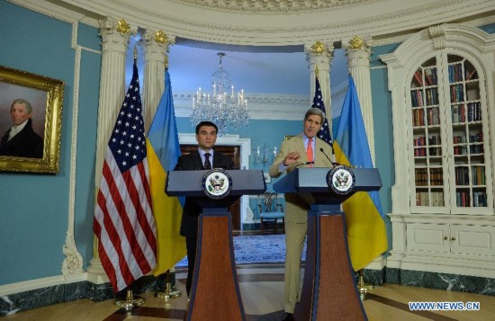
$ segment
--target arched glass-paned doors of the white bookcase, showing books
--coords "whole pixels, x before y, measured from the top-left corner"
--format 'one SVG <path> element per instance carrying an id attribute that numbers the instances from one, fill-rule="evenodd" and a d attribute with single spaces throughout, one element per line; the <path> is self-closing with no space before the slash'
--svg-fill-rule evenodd
<path id="1" fill-rule="evenodd" d="M 411 203 L 419 212 L 488 213 L 492 193 L 482 84 L 469 59 L 444 56 L 423 62 L 410 79 Z"/>

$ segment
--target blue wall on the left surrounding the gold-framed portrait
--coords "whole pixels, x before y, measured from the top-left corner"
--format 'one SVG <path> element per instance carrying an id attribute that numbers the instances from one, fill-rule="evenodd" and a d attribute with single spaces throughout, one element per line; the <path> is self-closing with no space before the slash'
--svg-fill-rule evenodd
<path id="1" fill-rule="evenodd" d="M 100 50 L 94 28 L 79 25 L 78 40 Z M 0 285 L 60 275 L 69 210 L 76 51 L 72 24 L 0 0 L 0 65 L 64 81 L 58 174 L 0 173 Z M 75 234 L 85 263 L 92 255 L 94 150 L 100 55 L 83 51 L 79 88 Z M 2 116 L 4 117 L 4 116 Z M 0 133 L 4 135 L 4 133 Z M 91 204 L 88 207 L 88 204 Z"/>

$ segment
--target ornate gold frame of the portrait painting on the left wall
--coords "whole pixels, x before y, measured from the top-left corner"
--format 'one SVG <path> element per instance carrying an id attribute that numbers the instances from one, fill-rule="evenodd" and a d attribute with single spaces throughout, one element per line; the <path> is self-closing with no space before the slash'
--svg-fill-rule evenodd
<path id="1" fill-rule="evenodd" d="M 46 76 L 0 66 L 0 83 L 24 87 L 22 90 L 26 90 L 26 94 L 32 90 L 46 93 L 43 158 L 0 156 L 0 171 L 58 173 L 64 82 Z M 12 96 L 9 97 L 9 100 L 14 101 L 17 98 L 23 97 Z M 5 117 L 5 115 L 1 117 Z M 0 133 L 0 135 L 3 136 L 4 132 Z"/>

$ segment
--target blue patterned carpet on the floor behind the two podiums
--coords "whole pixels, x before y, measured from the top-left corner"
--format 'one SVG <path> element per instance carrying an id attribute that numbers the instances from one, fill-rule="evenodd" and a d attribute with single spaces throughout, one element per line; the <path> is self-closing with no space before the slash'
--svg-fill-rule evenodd
<path id="1" fill-rule="evenodd" d="M 236 264 L 284 263 L 285 235 L 234 236 Z M 306 258 L 306 245 L 302 251 L 302 260 Z M 187 266 L 184 257 L 175 266 Z"/>

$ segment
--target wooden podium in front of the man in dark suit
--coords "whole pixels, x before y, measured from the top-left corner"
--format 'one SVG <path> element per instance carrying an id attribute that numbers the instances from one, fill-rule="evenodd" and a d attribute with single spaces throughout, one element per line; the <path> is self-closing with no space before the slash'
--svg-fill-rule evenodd
<path id="1" fill-rule="evenodd" d="M 238 289 L 229 206 L 242 195 L 261 194 L 266 183 L 261 170 L 226 171 L 232 180 L 227 197 L 214 200 L 202 192 L 208 171 L 170 171 L 166 194 L 186 196 L 202 207 L 193 284 L 186 320 L 245 320 Z"/>

